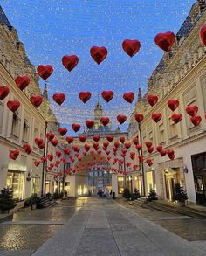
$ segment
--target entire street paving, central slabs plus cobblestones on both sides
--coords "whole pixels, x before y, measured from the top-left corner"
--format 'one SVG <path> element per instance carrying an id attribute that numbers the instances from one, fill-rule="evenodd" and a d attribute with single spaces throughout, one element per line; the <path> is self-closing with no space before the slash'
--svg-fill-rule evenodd
<path id="1" fill-rule="evenodd" d="M 111 199 L 79 198 L 76 201 L 58 202 L 54 207 L 48 209 L 18 211 L 14 214 L 13 221 L 0 224 L 0 255 L 206 255 L 205 220 L 134 207 L 129 205 L 129 202 L 122 200 L 118 200 L 118 202 L 124 207 Z M 75 220 L 75 218 L 78 219 Z M 154 226 L 145 218 L 152 221 Z M 146 224 L 144 224 L 145 222 Z M 179 237 L 172 236 L 170 232 L 166 232 L 160 226 Z M 147 233 L 148 229 L 149 233 Z M 64 238 L 58 235 L 61 232 L 64 232 Z M 162 253 L 160 241 L 153 241 L 156 232 L 158 232 L 157 237 L 160 236 L 162 245 L 167 243 L 167 239 L 171 237 L 171 243 L 176 244 L 179 238 L 181 246 L 184 247 L 186 243 L 184 239 L 187 239 L 189 241 L 187 246 L 195 246 L 197 251 L 201 248 L 204 253 Z M 150 234 L 153 234 L 154 238 L 148 239 Z M 39 253 L 37 249 L 44 243 L 45 245 L 47 242 L 50 243 L 53 236 L 54 239 L 56 236 L 57 246 L 64 248 L 65 245 L 62 243 L 68 243 L 71 250 L 67 252 L 65 248 L 66 252 L 63 254 L 61 254 L 62 252 L 52 254 L 52 252 L 57 252 L 57 248 L 53 248 L 53 251 L 48 253 Z M 164 240 L 166 236 L 167 239 Z M 50 246 L 55 246 L 55 240 L 52 240 Z M 72 251 L 73 246 L 76 247 Z M 92 249 L 91 246 L 93 246 Z M 187 246 L 185 250 L 188 249 Z"/>

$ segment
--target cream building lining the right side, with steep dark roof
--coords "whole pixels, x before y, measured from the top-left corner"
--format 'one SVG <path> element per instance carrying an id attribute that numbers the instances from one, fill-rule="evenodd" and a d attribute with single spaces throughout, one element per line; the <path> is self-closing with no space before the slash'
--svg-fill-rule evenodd
<path id="1" fill-rule="evenodd" d="M 146 195 L 152 188 L 162 199 L 172 200 L 175 183 L 181 183 L 187 190 L 189 203 L 206 205 L 206 55 L 199 39 L 199 30 L 206 20 L 206 3 L 197 1 L 189 16 L 176 34 L 175 47 L 165 53 L 161 62 L 148 80 L 148 91 L 139 97 L 134 113 L 144 114 L 139 128 L 131 120 L 129 135 L 138 135 L 142 140 Z M 154 107 L 148 105 L 148 94 L 158 96 Z M 182 121 L 175 124 L 168 100 L 179 100 L 175 113 L 182 114 Z M 197 115 L 202 117 L 194 126 L 186 113 L 187 106 L 196 105 Z M 161 121 L 151 119 L 154 113 L 161 113 Z M 148 153 L 145 142 L 152 142 L 154 152 Z M 174 149 L 175 159 L 161 156 L 155 147 L 161 144 L 164 150 Z M 148 167 L 147 159 L 153 161 Z"/>

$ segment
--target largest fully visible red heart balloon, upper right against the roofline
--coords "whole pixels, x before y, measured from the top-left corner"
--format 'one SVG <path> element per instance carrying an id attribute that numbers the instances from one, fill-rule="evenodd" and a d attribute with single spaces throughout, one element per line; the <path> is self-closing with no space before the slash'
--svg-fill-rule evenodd
<path id="1" fill-rule="evenodd" d="M 168 52 L 175 43 L 175 34 L 171 31 L 159 33 L 155 36 L 154 42 L 161 50 Z"/>

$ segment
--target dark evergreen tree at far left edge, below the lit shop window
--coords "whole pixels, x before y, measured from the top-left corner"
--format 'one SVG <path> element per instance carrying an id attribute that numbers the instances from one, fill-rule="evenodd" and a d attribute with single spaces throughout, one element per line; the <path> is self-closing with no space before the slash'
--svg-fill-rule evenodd
<path id="1" fill-rule="evenodd" d="M 0 210 L 3 213 L 9 213 L 15 207 L 13 199 L 13 190 L 4 188 L 0 193 Z"/>

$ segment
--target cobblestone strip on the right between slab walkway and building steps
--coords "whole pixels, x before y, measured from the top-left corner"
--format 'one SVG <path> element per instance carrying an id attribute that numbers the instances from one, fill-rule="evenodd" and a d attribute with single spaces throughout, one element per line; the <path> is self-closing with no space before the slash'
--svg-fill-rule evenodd
<path id="1" fill-rule="evenodd" d="M 124 199 L 118 199 L 118 202 L 138 213 L 141 217 L 161 225 L 170 232 L 174 232 L 182 239 L 187 239 L 188 241 L 206 241 L 206 219 L 190 218 L 188 216 L 164 211 L 152 211 L 150 209 L 130 205 L 129 202 Z"/>

